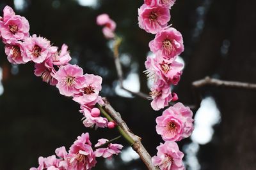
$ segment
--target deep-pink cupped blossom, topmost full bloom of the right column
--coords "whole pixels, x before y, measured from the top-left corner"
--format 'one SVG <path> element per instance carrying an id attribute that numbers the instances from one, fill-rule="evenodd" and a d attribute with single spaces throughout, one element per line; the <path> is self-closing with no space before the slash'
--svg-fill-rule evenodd
<path id="1" fill-rule="evenodd" d="M 139 27 L 156 34 L 167 26 L 171 18 L 170 10 L 164 6 L 147 6 L 143 4 L 138 10 Z"/>

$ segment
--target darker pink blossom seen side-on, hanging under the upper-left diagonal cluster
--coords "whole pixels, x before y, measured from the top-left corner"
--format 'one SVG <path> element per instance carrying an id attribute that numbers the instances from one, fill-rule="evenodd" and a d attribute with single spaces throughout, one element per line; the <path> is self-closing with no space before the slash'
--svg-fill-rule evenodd
<path id="1" fill-rule="evenodd" d="M 44 60 L 42 63 L 35 64 L 35 75 L 42 77 L 42 80 L 50 85 L 56 85 L 58 81 L 53 77 L 56 73 L 52 60 L 50 58 Z"/>

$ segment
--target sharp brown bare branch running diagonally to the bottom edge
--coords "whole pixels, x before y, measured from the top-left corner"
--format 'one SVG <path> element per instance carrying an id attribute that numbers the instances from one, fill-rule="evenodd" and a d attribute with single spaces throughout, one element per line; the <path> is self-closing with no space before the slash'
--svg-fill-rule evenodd
<path id="1" fill-rule="evenodd" d="M 104 110 L 106 110 L 111 118 L 115 120 L 116 124 L 120 126 L 124 132 L 134 141 L 134 144 L 132 145 L 132 149 L 140 155 L 141 160 L 144 162 L 144 164 L 148 167 L 149 170 L 159 170 L 159 167 L 156 167 L 152 164 L 152 158 L 145 149 L 145 147 L 141 143 L 141 138 L 139 136 L 136 136 L 132 131 L 129 129 L 127 124 L 122 119 L 120 113 L 116 112 L 115 109 L 109 104 L 108 100 L 106 98 L 102 98 L 104 101 Z"/>

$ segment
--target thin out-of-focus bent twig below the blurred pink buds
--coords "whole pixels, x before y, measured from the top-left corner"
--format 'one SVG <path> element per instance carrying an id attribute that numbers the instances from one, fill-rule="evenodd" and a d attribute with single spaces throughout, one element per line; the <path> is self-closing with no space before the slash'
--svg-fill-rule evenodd
<path id="1" fill-rule="evenodd" d="M 122 64 L 120 62 L 119 52 L 118 52 L 118 48 L 119 48 L 121 42 L 122 42 L 122 39 L 116 38 L 114 48 L 113 48 L 116 72 L 117 72 L 117 75 L 118 75 L 118 80 L 120 82 L 120 87 L 121 87 L 121 89 L 129 92 L 130 94 L 132 94 L 134 96 L 138 96 L 138 97 L 141 97 L 143 99 L 148 99 L 149 96 L 147 94 L 144 94 L 143 92 L 132 92 L 131 90 L 126 89 L 124 87 L 124 74 L 123 74 L 123 71 L 122 71 Z"/>

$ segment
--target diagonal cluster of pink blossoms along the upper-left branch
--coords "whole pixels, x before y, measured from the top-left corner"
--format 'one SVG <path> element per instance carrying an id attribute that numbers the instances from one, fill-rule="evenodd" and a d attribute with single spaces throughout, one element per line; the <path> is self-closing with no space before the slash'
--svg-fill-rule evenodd
<path id="1" fill-rule="evenodd" d="M 41 36 L 29 36 L 29 22 L 16 15 L 6 6 L 0 20 L 0 37 L 5 44 L 7 59 L 12 64 L 35 63 L 35 75 L 50 85 L 56 85 L 60 94 L 72 97 L 81 105 L 83 124 L 86 127 L 107 127 L 108 120 L 95 114 L 99 109 L 96 103 L 102 103 L 99 92 L 102 78 L 93 74 L 84 74 L 77 65 L 69 64 L 71 57 L 68 46 L 63 44 L 58 50 L 51 42 Z M 94 111 L 94 112 L 93 112 Z"/>

